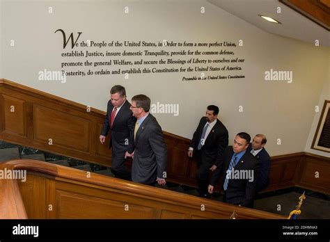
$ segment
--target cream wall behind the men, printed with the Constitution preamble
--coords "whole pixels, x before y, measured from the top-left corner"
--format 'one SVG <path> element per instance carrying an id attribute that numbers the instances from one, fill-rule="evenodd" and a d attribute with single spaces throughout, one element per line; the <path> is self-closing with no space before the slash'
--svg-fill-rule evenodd
<path id="1" fill-rule="evenodd" d="M 48 13 L 49 6 L 54 13 Z M 16 43 L 14 48 L 3 47 L 3 78 L 104 111 L 111 86 L 121 84 L 129 99 L 143 93 L 153 103 L 179 104 L 177 117 L 155 116 L 165 131 L 186 138 L 191 138 L 206 106 L 217 104 L 230 143 L 237 132 L 247 131 L 266 134 L 272 156 L 305 150 L 315 105 L 326 91 L 329 48 L 266 33 L 206 1 L 5 1 L 3 7 L 2 41 Z M 81 31 L 82 40 L 244 40 L 236 53 L 246 59 L 246 78 L 182 82 L 182 74 L 166 73 L 38 81 L 40 70 L 61 70 L 62 36 L 56 29 Z M 293 82 L 265 81 L 270 69 L 292 71 Z"/>

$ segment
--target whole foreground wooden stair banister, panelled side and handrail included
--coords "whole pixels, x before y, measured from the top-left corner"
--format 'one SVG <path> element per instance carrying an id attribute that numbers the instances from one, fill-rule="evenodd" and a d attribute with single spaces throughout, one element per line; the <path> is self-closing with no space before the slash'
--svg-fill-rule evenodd
<path id="1" fill-rule="evenodd" d="M 27 174 L 26 181 L 0 179 L 0 218 L 228 219 L 233 211 L 237 218 L 285 218 L 42 161 L 6 161 L 0 170 Z"/>

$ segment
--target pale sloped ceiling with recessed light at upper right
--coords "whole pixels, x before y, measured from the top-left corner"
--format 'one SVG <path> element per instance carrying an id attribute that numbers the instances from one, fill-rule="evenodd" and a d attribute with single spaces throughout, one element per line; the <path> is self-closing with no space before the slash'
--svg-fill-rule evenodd
<path id="1" fill-rule="evenodd" d="M 320 23 L 313 21 L 308 15 L 298 13 L 276 0 L 207 0 L 208 2 L 226 10 L 228 13 L 253 24 L 254 26 L 288 38 L 311 42 L 319 40 L 320 45 L 330 47 L 330 32 L 327 31 L 327 24 L 320 26 Z M 320 1 L 320 0 L 314 0 Z M 323 0 L 326 1 L 326 0 Z M 279 7 L 279 8 L 278 8 Z M 277 13 L 278 10 L 281 13 Z M 281 24 L 267 22 L 259 15 L 272 17 Z M 327 16 L 327 15 L 326 15 Z M 329 16 L 330 18 L 330 16 Z M 315 19 L 314 19 L 315 20 Z M 329 19 L 327 19 L 329 20 Z M 324 23 L 321 23 L 324 24 Z M 329 27 L 329 26 L 328 26 Z"/>

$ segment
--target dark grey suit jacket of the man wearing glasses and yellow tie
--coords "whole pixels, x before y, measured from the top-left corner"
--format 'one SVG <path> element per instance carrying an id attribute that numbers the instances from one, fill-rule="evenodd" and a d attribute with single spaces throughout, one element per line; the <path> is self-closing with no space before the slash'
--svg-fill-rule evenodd
<path id="1" fill-rule="evenodd" d="M 132 181 L 151 184 L 157 177 L 165 178 L 166 166 L 167 149 L 162 128 L 149 113 L 136 131 Z"/>

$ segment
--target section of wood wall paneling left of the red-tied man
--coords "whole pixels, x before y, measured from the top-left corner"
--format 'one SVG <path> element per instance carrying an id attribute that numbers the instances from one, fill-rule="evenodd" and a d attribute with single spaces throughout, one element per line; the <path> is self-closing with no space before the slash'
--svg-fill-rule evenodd
<path id="1" fill-rule="evenodd" d="M 109 137 L 99 141 L 102 111 L 0 79 L 0 112 L 1 140 L 111 166 Z"/>

